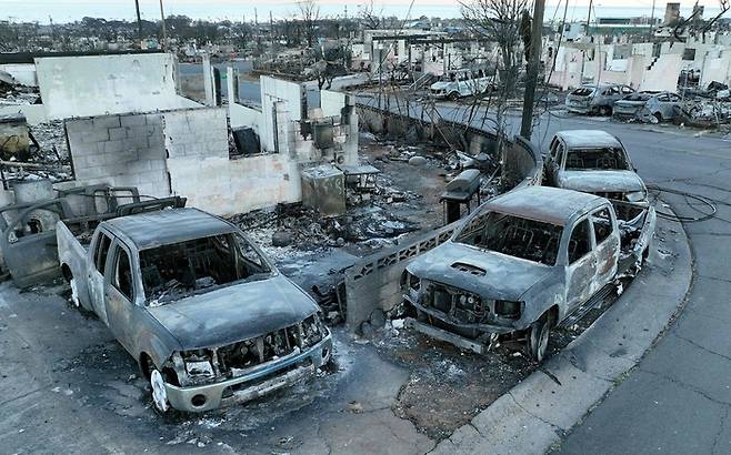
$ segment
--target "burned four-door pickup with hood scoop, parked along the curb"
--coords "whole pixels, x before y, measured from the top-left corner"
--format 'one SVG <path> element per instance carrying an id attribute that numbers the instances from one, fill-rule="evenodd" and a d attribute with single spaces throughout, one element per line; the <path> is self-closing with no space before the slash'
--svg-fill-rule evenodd
<path id="1" fill-rule="evenodd" d="M 479 353 L 501 334 L 525 334 L 540 362 L 551 327 L 609 295 L 621 254 L 607 199 L 547 186 L 513 190 L 409 264 L 403 297 L 417 318 L 407 324 Z"/>

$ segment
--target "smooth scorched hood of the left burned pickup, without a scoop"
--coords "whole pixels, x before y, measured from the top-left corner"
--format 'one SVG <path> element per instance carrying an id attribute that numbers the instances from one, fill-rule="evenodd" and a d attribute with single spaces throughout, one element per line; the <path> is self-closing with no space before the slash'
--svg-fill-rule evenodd
<path id="1" fill-rule="evenodd" d="M 318 311 L 282 275 L 236 284 L 162 306 L 150 314 L 183 350 L 222 346 L 297 324 Z"/>

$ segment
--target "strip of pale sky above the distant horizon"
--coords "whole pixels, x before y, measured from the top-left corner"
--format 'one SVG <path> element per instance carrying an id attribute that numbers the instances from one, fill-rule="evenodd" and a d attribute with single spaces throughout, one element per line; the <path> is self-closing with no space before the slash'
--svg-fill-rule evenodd
<path id="1" fill-rule="evenodd" d="M 156 20 L 160 17 L 158 0 L 139 0 L 143 19 Z M 368 0 L 318 0 L 321 14 L 328 17 L 343 16 L 346 7 L 349 16 L 356 16 L 360 6 Z M 469 1 L 469 0 L 465 0 Z M 563 16 L 564 2 L 569 2 L 569 19 L 585 18 L 589 0 L 548 0 L 545 18 Z M 675 0 L 677 1 L 677 0 Z M 667 0 L 657 0 L 655 16 L 664 13 Z M 405 18 L 411 0 L 374 0 L 375 9 L 382 9 L 384 16 Z M 694 0 L 681 0 L 681 9 L 688 16 Z M 718 10 L 719 0 L 701 0 L 705 6 L 705 17 Z M 168 14 L 186 14 L 193 19 L 253 20 L 254 8 L 259 20 L 268 20 L 269 12 L 274 18 L 292 17 L 298 8 L 294 0 L 163 0 Z M 650 16 L 652 0 L 595 0 L 594 10 L 599 17 Z M 411 18 L 420 17 L 453 18 L 460 16 L 458 0 L 413 0 Z M 731 13 L 729 13 L 731 14 Z M 84 16 L 106 19 L 134 19 L 134 0 L 0 0 L 0 20 L 38 21 L 48 23 L 68 22 Z"/>

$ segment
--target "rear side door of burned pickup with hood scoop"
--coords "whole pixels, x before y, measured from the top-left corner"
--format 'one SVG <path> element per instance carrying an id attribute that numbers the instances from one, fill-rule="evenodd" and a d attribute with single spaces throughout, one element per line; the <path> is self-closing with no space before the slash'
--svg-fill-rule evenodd
<path id="1" fill-rule="evenodd" d="M 593 211 L 590 215 L 597 256 L 595 286 L 592 293 L 610 283 L 617 275 L 620 236 L 614 229 L 617 225 L 614 218 L 614 211 L 609 205 Z"/>

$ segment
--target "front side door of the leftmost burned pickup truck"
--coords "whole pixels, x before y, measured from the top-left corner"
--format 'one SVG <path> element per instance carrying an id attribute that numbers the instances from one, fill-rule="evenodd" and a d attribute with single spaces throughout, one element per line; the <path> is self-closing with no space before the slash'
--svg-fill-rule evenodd
<path id="1" fill-rule="evenodd" d="M 112 243 L 107 259 L 104 273 L 104 302 L 109 317 L 109 328 L 117 340 L 134 353 L 136 340 L 133 324 L 136 321 L 136 280 L 130 250 L 119 240 Z"/>

